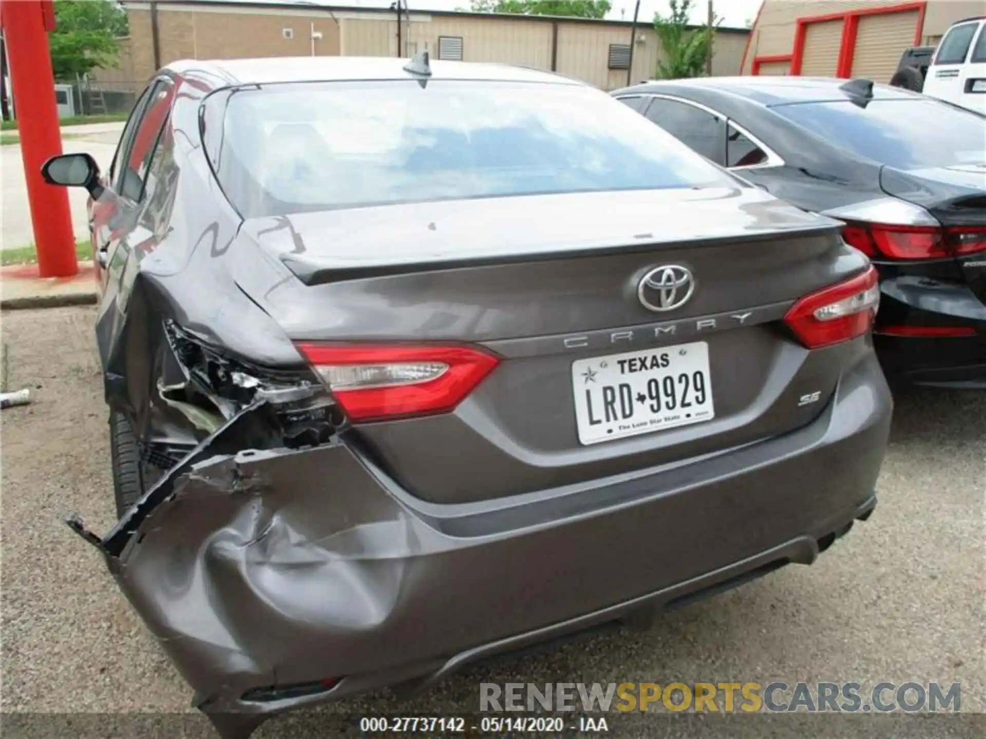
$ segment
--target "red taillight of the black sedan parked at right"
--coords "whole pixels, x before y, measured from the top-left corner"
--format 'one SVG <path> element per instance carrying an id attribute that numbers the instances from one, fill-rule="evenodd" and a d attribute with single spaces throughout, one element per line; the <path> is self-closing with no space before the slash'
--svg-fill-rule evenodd
<path id="1" fill-rule="evenodd" d="M 986 251 L 986 227 L 889 226 L 849 223 L 846 242 L 864 254 L 890 259 L 941 259 Z"/>

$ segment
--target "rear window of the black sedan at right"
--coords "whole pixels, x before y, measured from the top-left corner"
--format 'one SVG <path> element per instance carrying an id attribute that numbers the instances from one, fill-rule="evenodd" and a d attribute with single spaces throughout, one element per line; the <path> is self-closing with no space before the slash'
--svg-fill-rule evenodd
<path id="1" fill-rule="evenodd" d="M 881 165 L 914 169 L 986 162 L 986 117 L 945 102 L 808 102 L 771 109 Z"/>

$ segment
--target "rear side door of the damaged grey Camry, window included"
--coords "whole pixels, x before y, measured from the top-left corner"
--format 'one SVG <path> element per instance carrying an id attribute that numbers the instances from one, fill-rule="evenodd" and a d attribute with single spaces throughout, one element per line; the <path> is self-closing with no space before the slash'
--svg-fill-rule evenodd
<path id="1" fill-rule="evenodd" d="M 93 209 L 97 264 L 103 270 L 97 340 L 105 367 L 126 314 L 126 302 L 140 258 L 147 250 L 147 241 L 154 237 L 141 216 L 156 187 L 152 163 L 174 94 L 175 83 L 167 77 L 155 80 L 149 87 L 146 100 L 131 116 L 133 124 L 127 123 L 104 179 L 108 192 Z"/>

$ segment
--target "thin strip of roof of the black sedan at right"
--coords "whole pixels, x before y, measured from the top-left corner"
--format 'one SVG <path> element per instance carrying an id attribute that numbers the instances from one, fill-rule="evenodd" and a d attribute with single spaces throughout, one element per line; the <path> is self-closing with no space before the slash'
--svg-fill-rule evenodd
<path id="1" fill-rule="evenodd" d="M 687 80 L 655 80 L 620 93 L 660 93 L 695 90 L 715 91 L 758 102 L 761 105 L 783 105 L 791 102 L 831 102 L 859 100 L 859 93 L 844 89 L 849 80 L 829 77 L 698 77 Z M 871 97 L 871 96 L 868 96 Z M 919 100 L 917 93 L 889 85 L 873 85 L 873 100 Z"/>

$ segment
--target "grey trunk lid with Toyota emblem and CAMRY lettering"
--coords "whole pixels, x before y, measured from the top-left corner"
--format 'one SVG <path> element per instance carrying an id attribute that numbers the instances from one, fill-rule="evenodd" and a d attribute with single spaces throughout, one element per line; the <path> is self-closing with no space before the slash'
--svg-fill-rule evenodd
<path id="1" fill-rule="evenodd" d="M 675 465 L 809 423 L 864 351 L 810 351 L 782 322 L 802 296 L 866 268 L 838 226 L 749 187 L 372 207 L 247 221 L 243 233 L 300 282 L 238 281 L 297 341 L 494 353 L 499 365 L 453 412 L 357 423 L 349 436 L 413 495 L 464 503 Z M 685 274 L 675 270 L 691 277 L 686 300 L 685 286 L 669 292 Z M 622 370 L 638 376 L 621 382 Z M 644 428 L 599 436 L 594 421 L 643 413 L 655 393 L 659 422 L 634 416 L 624 426 Z"/>

